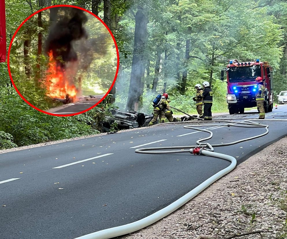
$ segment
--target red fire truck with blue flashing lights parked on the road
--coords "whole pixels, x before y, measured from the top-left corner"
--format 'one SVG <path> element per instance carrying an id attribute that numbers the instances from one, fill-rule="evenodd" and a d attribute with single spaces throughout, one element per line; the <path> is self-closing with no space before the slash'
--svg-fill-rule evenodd
<path id="1" fill-rule="evenodd" d="M 221 70 L 221 80 L 227 74 L 227 103 L 230 115 L 244 113 L 245 108 L 256 107 L 257 76 L 261 76 L 265 88 L 265 113 L 273 109 L 273 73 L 268 62 L 239 62 L 230 60 L 227 68 Z"/>

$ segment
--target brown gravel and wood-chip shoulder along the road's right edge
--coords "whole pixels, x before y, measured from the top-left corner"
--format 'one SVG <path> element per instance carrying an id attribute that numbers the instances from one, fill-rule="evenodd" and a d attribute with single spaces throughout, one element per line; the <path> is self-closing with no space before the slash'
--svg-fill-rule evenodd
<path id="1" fill-rule="evenodd" d="M 269 145 L 174 213 L 120 238 L 287 238 L 286 145 L 287 137 Z"/>

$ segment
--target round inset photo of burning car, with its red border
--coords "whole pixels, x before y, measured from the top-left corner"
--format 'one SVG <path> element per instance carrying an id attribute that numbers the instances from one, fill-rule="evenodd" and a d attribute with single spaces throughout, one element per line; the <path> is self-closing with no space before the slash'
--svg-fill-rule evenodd
<path id="1" fill-rule="evenodd" d="M 50 115 L 72 116 L 99 104 L 118 74 L 118 47 L 91 12 L 70 5 L 44 8 L 17 29 L 8 70 L 18 94 Z"/>

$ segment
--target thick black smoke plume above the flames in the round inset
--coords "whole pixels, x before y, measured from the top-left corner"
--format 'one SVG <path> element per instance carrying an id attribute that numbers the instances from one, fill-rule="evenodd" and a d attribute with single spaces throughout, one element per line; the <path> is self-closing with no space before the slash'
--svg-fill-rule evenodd
<path id="1" fill-rule="evenodd" d="M 56 14 L 52 15 L 53 12 Z M 57 65 L 65 68 L 67 62 L 78 59 L 72 41 L 87 39 L 87 32 L 83 25 L 88 18 L 83 10 L 60 7 L 57 11 L 51 11 L 50 20 L 52 20 L 52 25 L 46 40 L 46 53 L 52 50 Z"/>

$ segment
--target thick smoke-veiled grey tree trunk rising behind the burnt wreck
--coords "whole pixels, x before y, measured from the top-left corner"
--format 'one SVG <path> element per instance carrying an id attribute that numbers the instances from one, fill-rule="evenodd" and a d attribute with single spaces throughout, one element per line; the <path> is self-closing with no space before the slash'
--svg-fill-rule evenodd
<path id="1" fill-rule="evenodd" d="M 128 90 L 128 100 L 126 103 L 127 110 L 136 110 L 138 104 L 141 87 L 141 75 L 143 68 L 143 55 L 145 50 L 146 31 L 148 24 L 148 16 L 143 8 L 138 6 L 135 16 L 135 40 L 133 50 L 133 60 L 131 69 L 131 80 Z"/>

